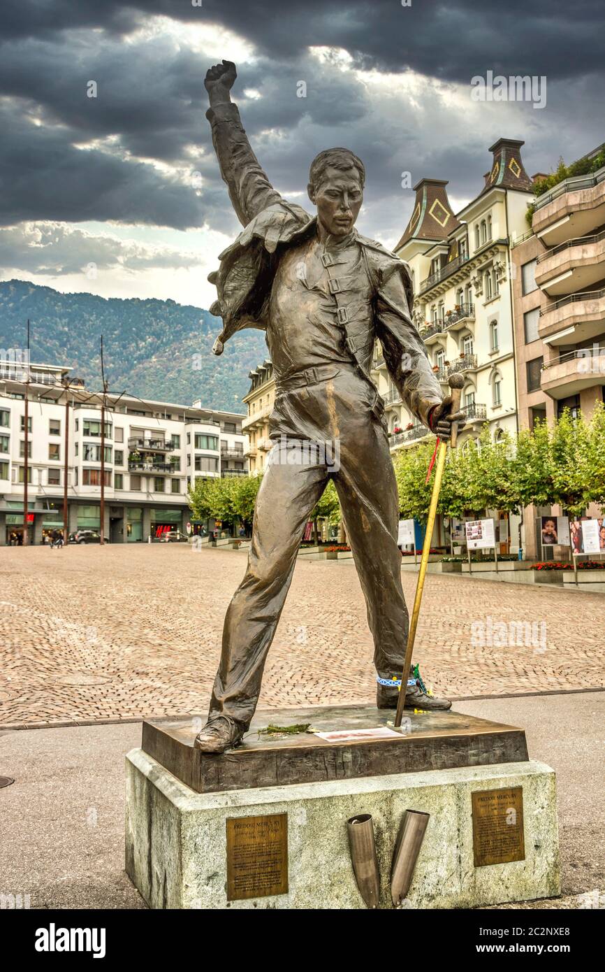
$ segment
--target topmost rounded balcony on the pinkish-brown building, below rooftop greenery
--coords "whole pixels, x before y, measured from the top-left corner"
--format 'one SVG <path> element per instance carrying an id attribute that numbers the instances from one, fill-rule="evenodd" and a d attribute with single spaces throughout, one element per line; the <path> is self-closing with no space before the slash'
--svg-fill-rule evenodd
<path id="1" fill-rule="evenodd" d="M 565 179 L 538 196 L 531 226 L 547 246 L 584 236 L 605 223 L 605 168 L 594 175 Z"/>

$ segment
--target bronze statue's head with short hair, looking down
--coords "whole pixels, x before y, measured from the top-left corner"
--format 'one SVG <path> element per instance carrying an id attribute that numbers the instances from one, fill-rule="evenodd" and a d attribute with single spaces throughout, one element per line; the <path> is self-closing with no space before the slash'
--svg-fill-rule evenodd
<path id="1" fill-rule="evenodd" d="M 319 223 L 333 236 L 347 236 L 361 203 L 365 169 L 349 149 L 326 149 L 311 163 L 309 198 L 318 207 Z"/>

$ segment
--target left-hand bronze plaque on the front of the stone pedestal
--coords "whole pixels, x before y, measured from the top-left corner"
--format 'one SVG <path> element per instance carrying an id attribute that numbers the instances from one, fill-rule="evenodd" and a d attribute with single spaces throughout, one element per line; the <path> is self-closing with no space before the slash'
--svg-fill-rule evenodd
<path id="1" fill-rule="evenodd" d="M 287 814 L 227 818 L 227 901 L 287 894 Z"/>

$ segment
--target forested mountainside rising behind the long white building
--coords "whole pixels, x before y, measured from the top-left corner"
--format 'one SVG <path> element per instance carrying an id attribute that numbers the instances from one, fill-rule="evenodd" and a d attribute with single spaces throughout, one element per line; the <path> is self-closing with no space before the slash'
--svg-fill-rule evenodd
<path id="1" fill-rule="evenodd" d="M 101 387 L 100 338 L 110 391 L 142 399 L 244 413 L 248 372 L 268 357 L 264 334 L 243 330 L 217 358 L 220 319 L 174 300 L 60 294 L 22 280 L 0 283 L 0 348 L 22 348 L 29 318 L 31 361 L 68 364 Z"/>

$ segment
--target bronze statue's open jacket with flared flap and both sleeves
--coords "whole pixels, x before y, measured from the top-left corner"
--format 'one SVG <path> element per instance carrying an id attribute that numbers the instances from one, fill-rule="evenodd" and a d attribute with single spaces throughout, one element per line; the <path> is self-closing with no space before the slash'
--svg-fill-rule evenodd
<path id="1" fill-rule="evenodd" d="M 218 291 L 210 311 L 222 318 L 222 330 L 213 348 L 219 355 L 224 342 L 236 331 L 267 329 L 271 289 L 279 262 L 285 250 L 316 233 L 317 217 L 287 202 L 273 189 L 252 153 L 234 104 L 211 108 L 207 117 L 212 124 L 222 178 L 245 226 L 234 243 L 219 255 L 219 268 L 208 277 Z M 369 371 L 378 338 L 387 370 L 402 400 L 428 425 L 429 413 L 441 402 L 443 394 L 411 318 L 414 298 L 408 264 L 356 230 L 353 241 L 361 252 L 372 292 L 368 321 L 348 319 L 346 300 L 341 299 L 343 295 L 334 295 L 338 321 L 353 363 L 372 384 Z M 329 261 L 329 255 L 325 259 Z M 330 276 L 329 262 L 324 265 Z M 378 394 L 376 399 L 382 411 L 384 406 Z"/>

